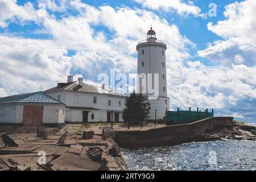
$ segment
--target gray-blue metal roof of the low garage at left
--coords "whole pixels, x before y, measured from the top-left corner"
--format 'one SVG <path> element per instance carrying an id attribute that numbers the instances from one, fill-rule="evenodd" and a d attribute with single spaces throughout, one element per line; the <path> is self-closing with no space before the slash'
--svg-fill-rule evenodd
<path id="1" fill-rule="evenodd" d="M 52 104 L 63 104 L 55 98 L 48 96 L 43 92 L 33 92 L 19 94 L 15 96 L 2 97 L 0 98 L 0 104 L 8 103 L 52 103 Z"/>

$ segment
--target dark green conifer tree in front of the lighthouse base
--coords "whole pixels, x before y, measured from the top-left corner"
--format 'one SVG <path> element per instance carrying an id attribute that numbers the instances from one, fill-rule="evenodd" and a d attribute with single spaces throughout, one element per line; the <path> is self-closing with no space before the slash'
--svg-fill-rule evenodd
<path id="1" fill-rule="evenodd" d="M 135 93 L 133 90 L 133 93 L 125 98 L 125 108 L 122 111 L 123 121 L 140 123 L 149 117 L 149 113 L 150 103 L 141 93 Z"/>

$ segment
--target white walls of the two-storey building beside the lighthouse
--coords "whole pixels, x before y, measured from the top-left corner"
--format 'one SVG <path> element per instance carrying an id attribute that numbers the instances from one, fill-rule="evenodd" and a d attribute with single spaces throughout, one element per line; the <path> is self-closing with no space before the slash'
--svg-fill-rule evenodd
<path id="1" fill-rule="evenodd" d="M 88 122 L 105 122 L 107 121 L 107 112 L 113 110 L 118 112 L 119 121 L 123 121 L 121 117 L 122 109 L 125 106 L 125 98 L 118 96 L 109 96 L 108 94 L 100 93 L 85 93 L 85 92 L 72 92 L 72 91 L 58 91 L 47 93 L 49 96 L 58 99 L 67 106 L 76 107 L 93 107 L 100 110 L 85 110 L 88 113 Z M 97 103 L 93 104 L 93 97 L 97 97 Z M 78 98 L 78 99 L 77 99 Z M 108 100 L 111 100 L 111 104 L 108 105 Z M 78 102 L 77 102 L 78 101 Z M 121 101 L 121 106 L 119 106 Z M 66 109 L 65 121 L 67 122 L 82 122 L 82 111 L 75 109 Z M 94 113 L 94 119 L 91 119 L 91 115 Z M 114 117 L 113 117 L 114 118 Z"/>

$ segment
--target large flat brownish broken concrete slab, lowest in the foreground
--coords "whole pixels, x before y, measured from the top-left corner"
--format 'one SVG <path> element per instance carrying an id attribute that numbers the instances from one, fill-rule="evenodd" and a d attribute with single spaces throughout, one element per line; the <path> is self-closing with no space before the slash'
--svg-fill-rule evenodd
<path id="1" fill-rule="evenodd" d="M 65 153 L 59 158 L 53 160 L 50 164 L 59 164 L 68 167 L 88 169 L 92 171 L 98 171 L 101 167 L 100 163 L 93 162 L 91 159 L 86 156 L 80 156 L 73 153 Z"/>

